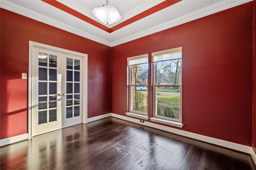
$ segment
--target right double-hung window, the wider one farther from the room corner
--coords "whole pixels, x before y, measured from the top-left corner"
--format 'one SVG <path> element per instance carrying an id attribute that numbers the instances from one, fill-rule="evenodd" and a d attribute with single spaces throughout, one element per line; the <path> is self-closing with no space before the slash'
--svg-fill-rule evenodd
<path id="1" fill-rule="evenodd" d="M 181 47 L 152 53 L 152 56 L 153 115 L 159 119 L 181 122 Z"/>

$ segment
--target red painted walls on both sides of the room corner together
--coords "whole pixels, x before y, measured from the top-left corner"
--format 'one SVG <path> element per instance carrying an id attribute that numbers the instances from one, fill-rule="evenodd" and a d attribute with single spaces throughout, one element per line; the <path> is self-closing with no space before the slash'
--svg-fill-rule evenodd
<path id="1" fill-rule="evenodd" d="M 113 47 L 112 64 L 110 47 L 1 8 L 0 139 L 27 133 L 28 80 L 21 73 L 28 73 L 28 41 L 88 54 L 89 118 L 128 111 L 127 57 L 182 47 L 182 130 L 252 146 L 256 152 L 253 4 L 256 9 L 256 2 L 249 2 Z M 254 30 L 255 25 L 254 18 Z M 151 101 L 149 106 L 152 115 Z"/>

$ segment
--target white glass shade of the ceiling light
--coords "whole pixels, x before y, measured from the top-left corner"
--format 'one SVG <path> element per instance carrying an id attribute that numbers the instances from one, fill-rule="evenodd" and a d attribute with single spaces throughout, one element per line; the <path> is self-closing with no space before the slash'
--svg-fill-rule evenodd
<path id="1" fill-rule="evenodd" d="M 121 20 L 121 16 L 118 10 L 114 6 L 103 6 L 100 8 L 94 8 L 92 14 L 105 24 L 112 24 Z"/>

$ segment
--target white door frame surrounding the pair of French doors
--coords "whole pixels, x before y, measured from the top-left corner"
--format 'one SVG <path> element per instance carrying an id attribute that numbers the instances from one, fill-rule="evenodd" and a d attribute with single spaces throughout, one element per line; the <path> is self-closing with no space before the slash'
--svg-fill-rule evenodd
<path id="1" fill-rule="evenodd" d="M 79 57 L 83 57 L 84 58 L 84 86 L 83 86 L 83 103 L 82 105 L 84 106 L 84 110 L 82 111 L 83 114 L 83 123 L 87 123 L 87 104 L 88 104 L 88 89 L 87 89 L 87 85 L 88 85 L 88 55 L 84 54 L 84 53 L 78 53 L 75 51 L 70 51 L 70 50 L 66 50 L 66 49 L 62 49 L 62 48 L 58 48 L 58 47 L 53 47 L 50 45 L 45 45 L 42 43 L 36 43 L 33 41 L 29 41 L 29 57 L 28 57 L 28 139 L 32 138 L 32 49 L 33 47 L 39 47 L 42 49 L 48 49 L 48 50 L 52 50 L 52 51 L 58 51 L 58 52 L 62 52 L 62 53 L 66 53 L 66 54 L 70 54 L 70 55 L 76 55 Z"/>

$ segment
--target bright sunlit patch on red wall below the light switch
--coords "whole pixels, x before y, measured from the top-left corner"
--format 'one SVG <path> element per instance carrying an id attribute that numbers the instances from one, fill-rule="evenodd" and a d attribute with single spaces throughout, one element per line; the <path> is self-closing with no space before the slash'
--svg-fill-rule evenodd
<path id="1" fill-rule="evenodd" d="M 27 79 L 1 80 L 0 139 L 27 133 L 26 89 Z"/>

